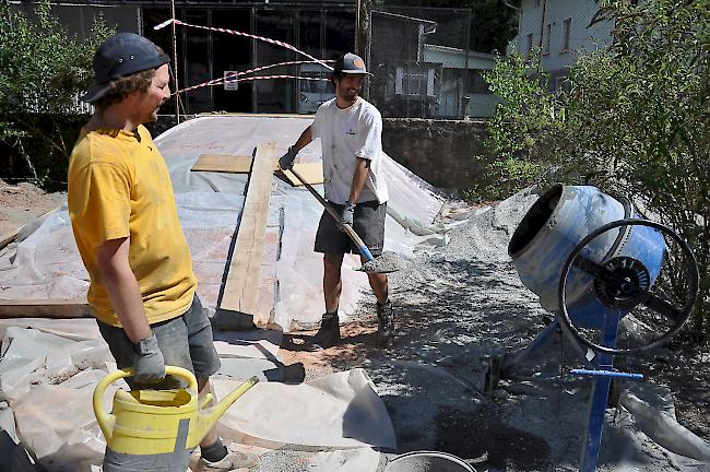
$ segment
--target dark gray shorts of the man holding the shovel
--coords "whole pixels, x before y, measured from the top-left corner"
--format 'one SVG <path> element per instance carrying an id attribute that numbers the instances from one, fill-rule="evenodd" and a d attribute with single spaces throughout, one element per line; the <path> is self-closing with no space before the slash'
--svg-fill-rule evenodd
<path id="1" fill-rule="evenodd" d="M 343 205 L 330 204 L 340 213 Z M 358 203 L 355 206 L 353 229 L 363 239 L 372 256 L 381 256 L 384 246 L 384 216 L 387 216 L 387 202 L 380 204 L 376 200 Z M 335 220 L 327 212 L 320 216 L 318 233 L 316 233 L 316 252 L 323 253 L 359 253 L 358 247 L 350 237 L 338 228 Z"/>

